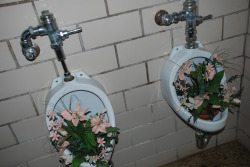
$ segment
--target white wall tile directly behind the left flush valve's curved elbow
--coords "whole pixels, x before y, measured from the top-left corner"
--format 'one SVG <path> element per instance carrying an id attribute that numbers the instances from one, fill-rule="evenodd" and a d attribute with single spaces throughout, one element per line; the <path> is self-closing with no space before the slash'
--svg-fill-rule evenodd
<path id="1" fill-rule="evenodd" d="M 73 28 L 75 28 L 75 26 L 71 26 L 67 28 L 67 30 Z M 21 66 L 56 58 L 55 51 L 50 47 L 50 40 L 48 36 L 38 36 L 35 40 L 32 40 L 32 42 L 36 43 L 40 47 L 40 54 L 34 61 L 28 61 L 22 53 L 20 39 L 18 38 L 10 41 L 18 63 Z M 63 41 L 63 50 L 65 54 L 75 53 L 82 50 L 77 34 L 71 35 Z"/>

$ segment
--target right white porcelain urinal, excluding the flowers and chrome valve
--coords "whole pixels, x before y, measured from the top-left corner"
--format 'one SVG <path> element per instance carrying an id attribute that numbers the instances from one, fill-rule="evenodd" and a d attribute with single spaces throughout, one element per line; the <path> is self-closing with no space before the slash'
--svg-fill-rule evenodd
<path id="1" fill-rule="evenodd" d="M 184 121 L 204 132 L 216 132 L 225 127 L 228 109 L 223 112 L 219 112 L 219 114 L 214 117 L 213 121 L 198 118 L 195 123 L 193 121 L 193 117 L 190 121 L 187 121 L 191 117 L 191 114 L 184 107 L 181 107 L 181 109 L 177 111 L 177 108 L 181 104 L 176 94 L 175 87 L 173 86 L 173 82 L 177 79 L 177 72 L 179 68 L 187 60 L 199 63 L 204 61 L 204 58 L 209 58 L 211 56 L 211 53 L 206 51 L 200 42 L 198 42 L 198 44 L 199 47 L 196 49 L 186 49 L 185 45 L 179 45 L 173 48 L 161 72 L 161 91 L 167 103 Z M 226 77 L 224 75 L 222 83 L 225 81 Z"/>

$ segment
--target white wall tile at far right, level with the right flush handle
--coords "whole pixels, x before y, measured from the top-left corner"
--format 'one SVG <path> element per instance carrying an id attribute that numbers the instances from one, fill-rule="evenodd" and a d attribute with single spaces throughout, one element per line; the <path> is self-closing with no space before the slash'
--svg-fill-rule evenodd
<path id="1" fill-rule="evenodd" d="M 229 38 L 235 35 L 247 32 L 249 11 L 228 15 L 224 17 L 224 38 Z"/>

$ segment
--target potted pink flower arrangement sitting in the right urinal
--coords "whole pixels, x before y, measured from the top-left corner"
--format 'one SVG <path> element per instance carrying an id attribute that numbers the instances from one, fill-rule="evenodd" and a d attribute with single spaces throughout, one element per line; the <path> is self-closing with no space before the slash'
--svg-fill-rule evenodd
<path id="1" fill-rule="evenodd" d="M 173 86 L 180 98 L 181 106 L 192 114 L 194 122 L 203 114 L 209 115 L 208 119 L 213 120 L 219 111 L 223 112 L 226 108 L 240 103 L 239 96 L 243 89 L 236 91 L 235 87 L 227 86 L 227 83 L 231 83 L 239 76 L 232 76 L 222 83 L 224 70 L 221 55 L 224 54 L 215 52 L 200 63 L 188 60 L 177 73 Z"/>

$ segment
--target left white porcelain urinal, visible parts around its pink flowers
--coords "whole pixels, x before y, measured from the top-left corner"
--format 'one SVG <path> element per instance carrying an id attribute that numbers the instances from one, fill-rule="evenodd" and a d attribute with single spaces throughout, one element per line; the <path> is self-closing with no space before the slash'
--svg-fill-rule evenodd
<path id="1" fill-rule="evenodd" d="M 84 72 L 77 72 L 74 76 L 75 79 L 70 82 L 64 82 L 64 77 L 53 80 L 50 92 L 46 97 L 46 113 L 49 111 L 61 112 L 64 109 L 61 101 L 68 107 L 70 105 L 70 98 L 77 97 L 71 104 L 72 109 L 79 103 L 83 109 L 90 108 L 91 113 L 88 115 L 95 115 L 97 112 L 100 113 L 103 109 L 107 109 L 105 119 L 115 127 L 114 111 L 103 87 Z M 89 118 L 88 115 L 87 117 Z M 46 122 L 48 129 L 50 129 L 48 117 L 46 117 Z M 114 145 L 114 141 L 111 144 Z M 107 156 L 110 159 L 112 149 L 108 151 L 111 151 Z M 70 154 L 69 150 L 65 150 L 64 153 Z M 82 163 L 80 167 L 91 167 L 91 165 Z"/>

